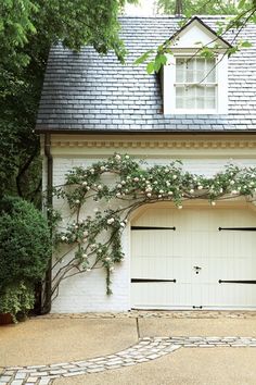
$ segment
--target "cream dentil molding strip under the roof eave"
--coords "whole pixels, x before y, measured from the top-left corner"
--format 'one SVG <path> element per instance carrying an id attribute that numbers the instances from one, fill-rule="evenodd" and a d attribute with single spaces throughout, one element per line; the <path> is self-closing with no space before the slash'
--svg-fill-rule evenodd
<path id="1" fill-rule="evenodd" d="M 253 149 L 252 140 L 52 140 L 53 148 Z"/>

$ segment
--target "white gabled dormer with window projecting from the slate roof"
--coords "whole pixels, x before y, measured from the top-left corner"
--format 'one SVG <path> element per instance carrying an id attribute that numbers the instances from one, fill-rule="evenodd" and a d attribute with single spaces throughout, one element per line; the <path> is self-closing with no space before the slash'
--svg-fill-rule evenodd
<path id="1" fill-rule="evenodd" d="M 230 44 L 199 17 L 169 41 L 171 54 L 163 69 L 164 114 L 227 114 Z M 202 47 L 213 55 L 203 57 Z"/>

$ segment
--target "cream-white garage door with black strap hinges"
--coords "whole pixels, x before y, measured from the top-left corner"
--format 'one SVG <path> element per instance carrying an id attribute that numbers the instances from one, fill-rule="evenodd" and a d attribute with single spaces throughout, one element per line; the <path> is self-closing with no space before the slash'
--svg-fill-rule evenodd
<path id="1" fill-rule="evenodd" d="M 131 227 L 132 308 L 255 309 L 254 226 L 249 209 L 148 209 Z"/>

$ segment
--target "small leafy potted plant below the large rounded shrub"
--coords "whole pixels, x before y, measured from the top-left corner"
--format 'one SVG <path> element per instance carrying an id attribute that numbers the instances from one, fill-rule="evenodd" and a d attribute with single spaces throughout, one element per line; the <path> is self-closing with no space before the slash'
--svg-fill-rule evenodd
<path id="1" fill-rule="evenodd" d="M 24 319 L 35 303 L 34 285 L 20 282 L 0 291 L 0 313 L 10 313 L 13 322 Z"/>

